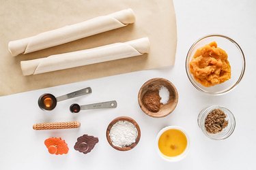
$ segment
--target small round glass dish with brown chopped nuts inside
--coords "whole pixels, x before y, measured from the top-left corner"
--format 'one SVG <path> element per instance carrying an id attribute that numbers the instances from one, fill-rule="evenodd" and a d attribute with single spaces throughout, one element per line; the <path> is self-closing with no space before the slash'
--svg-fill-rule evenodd
<path id="1" fill-rule="evenodd" d="M 197 123 L 203 133 L 214 140 L 227 139 L 236 127 L 232 112 L 221 105 L 212 105 L 202 109 Z"/>

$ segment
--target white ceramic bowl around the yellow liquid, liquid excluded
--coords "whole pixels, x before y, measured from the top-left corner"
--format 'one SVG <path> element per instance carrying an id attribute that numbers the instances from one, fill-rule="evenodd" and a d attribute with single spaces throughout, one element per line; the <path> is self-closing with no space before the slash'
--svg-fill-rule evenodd
<path id="1" fill-rule="evenodd" d="M 182 131 L 182 133 L 184 133 L 184 135 L 186 136 L 187 139 L 187 146 L 186 149 L 184 150 L 184 152 L 182 152 L 182 154 L 178 155 L 178 156 L 165 156 L 164 154 L 162 154 L 162 152 L 160 152 L 159 148 L 158 148 L 158 141 L 160 136 L 162 135 L 162 133 L 164 133 L 165 131 L 168 131 L 169 129 L 177 129 Z M 186 155 L 188 154 L 188 150 L 190 148 L 190 140 L 188 138 L 187 133 L 184 131 L 184 129 L 180 128 L 179 126 L 166 126 L 165 128 L 163 128 L 162 130 L 159 131 L 157 137 L 156 137 L 156 150 L 159 154 L 159 156 L 161 158 L 163 158 L 164 160 L 167 160 L 169 162 L 177 162 L 180 161 L 182 159 L 184 159 L 186 157 Z"/>

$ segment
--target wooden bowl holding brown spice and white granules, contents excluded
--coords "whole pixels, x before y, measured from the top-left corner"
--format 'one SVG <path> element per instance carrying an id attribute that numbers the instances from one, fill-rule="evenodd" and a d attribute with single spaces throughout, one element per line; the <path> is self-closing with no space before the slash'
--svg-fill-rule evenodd
<path id="1" fill-rule="evenodd" d="M 169 90 L 169 101 L 165 105 L 161 103 L 158 112 L 150 112 L 143 103 L 143 96 L 148 90 L 159 90 L 161 86 L 165 86 Z M 138 94 L 138 101 L 139 106 L 145 114 L 154 118 L 162 118 L 171 114 L 175 109 L 178 101 L 177 89 L 171 82 L 169 82 L 169 80 L 164 78 L 153 78 L 141 86 Z"/>

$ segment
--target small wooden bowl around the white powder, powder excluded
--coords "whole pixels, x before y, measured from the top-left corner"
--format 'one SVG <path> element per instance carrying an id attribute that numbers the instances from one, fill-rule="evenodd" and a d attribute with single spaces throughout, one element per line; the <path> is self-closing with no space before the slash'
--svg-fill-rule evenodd
<path id="1" fill-rule="evenodd" d="M 137 136 L 137 139 L 135 140 L 134 143 L 132 143 L 130 146 L 126 146 L 124 148 L 120 148 L 120 147 L 117 147 L 117 146 L 114 146 L 111 139 L 110 139 L 110 136 L 109 136 L 109 133 L 110 133 L 110 130 L 112 128 L 112 126 L 120 121 L 120 120 L 126 120 L 128 122 L 131 122 L 132 124 L 134 124 L 134 126 L 136 127 L 137 131 L 138 131 L 138 136 Z M 139 129 L 139 124 L 137 124 L 137 122 L 135 120 L 133 120 L 132 118 L 130 117 L 127 117 L 127 116 L 121 116 L 121 117 L 118 117 L 118 118 L 115 118 L 114 120 L 112 120 L 112 122 L 110 122 L 108 128 L 106 129 L 106 139 L 108 140 L 109 142 L 109 145 L 111 145 L 113 148 L 115 148 L 116 150 L 119 150 L 119 151 L 127 151 L 127 150 L 131 150 L 132 148 L 134 148 L 135 146 L 137 146 L 137 144 L 139 143 L 139 139 L 141 139 L 141 129 Z"/>

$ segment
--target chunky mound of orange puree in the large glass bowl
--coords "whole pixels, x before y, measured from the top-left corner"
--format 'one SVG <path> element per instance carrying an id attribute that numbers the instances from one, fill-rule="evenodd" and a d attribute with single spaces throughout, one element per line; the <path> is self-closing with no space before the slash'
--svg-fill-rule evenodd
<path id="1" fill-rule="evenodd" d="M 205 87 L 221 84 L 231 78 L 231 67 L 225 50 L 215 41 L 197 49 L 189 63 L 190 73 Z"/>

